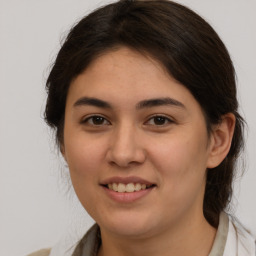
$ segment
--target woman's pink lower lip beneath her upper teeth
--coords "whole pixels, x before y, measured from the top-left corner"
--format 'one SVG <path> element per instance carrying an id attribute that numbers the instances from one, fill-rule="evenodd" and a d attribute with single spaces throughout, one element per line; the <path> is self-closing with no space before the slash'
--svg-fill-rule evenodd
<path id="1" fill-rule="evenodd" d="M 102 188 L 104 189 L 106 194 L 114 201 L 117 201 L 119 203 L 132 203 L 147 196 L 153 190 L 154 187 L 143 189 L 140 191 L 124 193 L 115 192 L 114 190 L 108 189 L 106 187 Z"/>

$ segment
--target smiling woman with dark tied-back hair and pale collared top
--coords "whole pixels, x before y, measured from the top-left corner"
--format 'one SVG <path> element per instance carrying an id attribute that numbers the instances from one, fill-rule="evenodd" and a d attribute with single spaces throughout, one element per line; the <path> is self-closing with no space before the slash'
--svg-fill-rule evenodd
<path id="1" fill-rule="evenodd" d="M 243 147 L 235 72 L 201 17 L 171 1 L 102 7 L 70 31 L 47 90 L 46 121 L 97 223 L 66 255 L 255 255 L 224 213 Z"/>

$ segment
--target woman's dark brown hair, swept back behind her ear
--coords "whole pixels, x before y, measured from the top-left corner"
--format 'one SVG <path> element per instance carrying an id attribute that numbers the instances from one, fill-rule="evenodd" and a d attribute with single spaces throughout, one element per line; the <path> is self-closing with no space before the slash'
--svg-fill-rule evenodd
<path id="1" fill-rule="evenodd" d="M 224 114 L 236 117 L 227 157 L 207 170 L 204 215 L 217 227 L 232 195 L 237 157 L 243 147 L 243 119 L 237 112 L 232 61 L 213 28 L 172 1 L 123 0 L 104 6 L 76 24 L 63 43 L 47 80 L 46 122 L 63 143 L 66 97 L 71 81 L 101 54 L 121 46 L 150 55 L 183 84 L 201 105 L 208 132 Z"/>

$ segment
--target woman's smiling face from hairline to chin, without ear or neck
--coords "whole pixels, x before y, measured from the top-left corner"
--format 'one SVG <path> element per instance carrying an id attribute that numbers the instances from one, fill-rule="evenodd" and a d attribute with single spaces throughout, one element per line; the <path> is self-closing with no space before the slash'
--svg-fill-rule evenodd
<path id="1" fill-rule="evenodd" d="M 106 53 L 70 85 L 63 155 L 102 230 L 143 237 L 203 216 L 210 141 L 192 94 L 132 50 Z"/>

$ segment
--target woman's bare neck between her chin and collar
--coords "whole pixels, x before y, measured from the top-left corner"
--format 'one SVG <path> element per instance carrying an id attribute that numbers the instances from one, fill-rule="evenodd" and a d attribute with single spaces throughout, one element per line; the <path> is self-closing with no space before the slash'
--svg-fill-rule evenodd
<path id="1" fill-rule="evenodd" d="M 184 223 L 161 233 L 144 237 L 116 236 L 101 229 L 102 246 L 98 256 L 207 256 L 212 248 L 216 229 L 204 216 L 186 219 Z"/>

